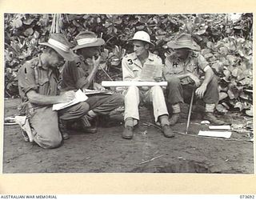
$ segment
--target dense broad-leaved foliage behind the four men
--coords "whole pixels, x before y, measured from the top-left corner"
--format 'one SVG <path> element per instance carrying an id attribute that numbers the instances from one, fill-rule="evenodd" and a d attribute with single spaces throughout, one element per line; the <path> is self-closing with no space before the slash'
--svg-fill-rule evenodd
<path id="1" fill-rule="evenodd" d="M 54 26 L 53 26 L 54 25 Z M 132 48 L 127 42 L 135 31 L 145 30 L 155 43 L 152 51 L 162 59 L 166 43 L 177 34 L 193 35 L 201 53 L 218 74 L 218 111 L 244 111 L 252 115 L 253 14 L 5 14 L 5 95 L 18 95 L 17 71 L 41 49 L 50 32 L 66 34 L 74 43 L 81 30 L 104 38 L 102 70 L 98 79 L 122 78 L 121 60 Z"/>

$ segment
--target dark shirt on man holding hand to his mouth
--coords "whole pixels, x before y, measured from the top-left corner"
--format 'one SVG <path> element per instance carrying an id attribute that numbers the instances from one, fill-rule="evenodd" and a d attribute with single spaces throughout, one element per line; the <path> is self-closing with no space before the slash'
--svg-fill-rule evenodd
<path id="1" fill-rule="evenodd" d="M 66 61 L 62 70 L 62 90 L 78 90 L 88 88 L 90 84 L 86 81 L 87 76 L 93 69 L 91 59 L 76 56 L 74 61 Z"/>

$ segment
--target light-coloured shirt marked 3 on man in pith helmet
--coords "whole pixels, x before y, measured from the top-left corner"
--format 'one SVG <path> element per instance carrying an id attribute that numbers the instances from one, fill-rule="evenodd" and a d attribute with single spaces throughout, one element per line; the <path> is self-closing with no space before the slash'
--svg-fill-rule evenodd
<path id="1" fill-rule="evenodd" d="M 162 66 L 162 59 L 156 54 L 149 52 L 149 57 L 145 64 Z M 142 71 L 142 63 L 135 53 L 131 53 L 122 58 L 122 78 L 124 81 L 138 81 Z"/>

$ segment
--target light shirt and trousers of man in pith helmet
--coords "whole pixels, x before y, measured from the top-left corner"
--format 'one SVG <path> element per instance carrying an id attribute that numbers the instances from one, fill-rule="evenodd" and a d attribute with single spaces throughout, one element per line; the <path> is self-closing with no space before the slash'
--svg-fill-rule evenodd
<path id="1" fill-rule="evenodd" d="M 149 52 L 149 57 L 144 65 L 162 66 L 162 59 L 158 55 Z M 142 71 L 142 63 L 135 53 L 128 54 L 122 58 L 122 77 L 124 81 L 138 81 Z M 160 86 L 150 87 L 150 90 L 139 90 L 137 86 L 129 86 L 125 93 L 125 119 L 134 118 L 139 120 L 138 105 L 142 98 L 143 102 L 153 102 L 154 120 L 158 122 L 158 117 L 168 115 L 166 102 L 162 88 Z M 137 122 L 134 122 L 137 123 Z"/>

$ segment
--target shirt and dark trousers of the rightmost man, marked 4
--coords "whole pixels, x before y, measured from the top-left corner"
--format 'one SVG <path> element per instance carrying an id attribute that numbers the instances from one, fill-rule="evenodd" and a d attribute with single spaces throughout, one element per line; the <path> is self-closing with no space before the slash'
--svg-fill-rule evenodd
<path id="1" fill-rule="evenodd" d="M 200 78 L 206 66 L 209 67 L 209 63 L 206 59 L 201 54 L 192 50 L 186 60 L 178 58 L 175 54 L 166 57 L 163 74 L 165 78 L 168 79 L 166 90 L 167 102 L 169 102 L 170 105 L 184 102 L 184 100 L 185 102 L 189 102 L 193 91 L 194 81 L 191 78 L 183 78 L 180 80 L 179 78 L 175 78 L 174 75 L 190 72 Z M 218 102 L 218 81 L 215 76 L 207 86 L 203 101 L 206 104 L 216 104 Z"/>

